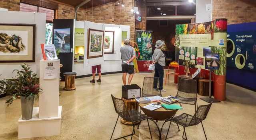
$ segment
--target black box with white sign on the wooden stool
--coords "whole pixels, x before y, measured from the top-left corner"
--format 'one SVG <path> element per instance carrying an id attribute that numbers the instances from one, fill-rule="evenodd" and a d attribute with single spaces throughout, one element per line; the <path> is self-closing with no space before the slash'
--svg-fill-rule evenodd
<path id="1" fill-rule="evenodd" d="M 140 87 L 136 84 L 122 86 L 122 97 L 124 99 L 139 98 L 140 97 Z"/>

